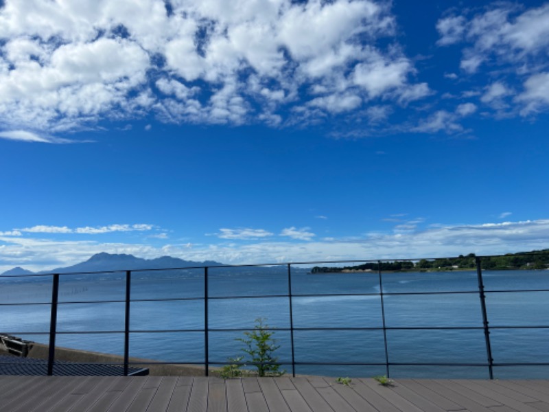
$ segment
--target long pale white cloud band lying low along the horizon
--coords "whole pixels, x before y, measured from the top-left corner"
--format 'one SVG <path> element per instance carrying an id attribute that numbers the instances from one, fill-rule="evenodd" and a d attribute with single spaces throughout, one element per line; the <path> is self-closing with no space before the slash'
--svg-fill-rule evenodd
<path id="1" fill-rule="evenodd" d="M 291 229 L 291 228 L 290 228 Z M 292 229 L 296 230 L 295 228 Z M 492 255 L 547 248 L 549 220 L 438 225 L 424 230 L 366 233 L 360 238 L 324 238 L 303 242 L 247 244 L 148 244 L 54 241 L 0 234 L 0 272 L 14 266 L 46 270 L 89 259 L 93 253 L 131 253 L 140 258 L 171 255 L 185 260 L 216 260 L 227 264 L 306 262 L 320 260 L 367 260 L 438 258 L 476 253 Z"/>

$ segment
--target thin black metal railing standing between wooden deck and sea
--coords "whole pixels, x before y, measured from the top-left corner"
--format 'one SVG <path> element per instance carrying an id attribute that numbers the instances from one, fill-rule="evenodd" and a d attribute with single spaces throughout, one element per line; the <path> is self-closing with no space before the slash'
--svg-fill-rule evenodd
<path id="1" fill-rule="evenodd" d="M 211 365 L 221 365 L 222 362 L 211 359 L 209 354 L 209 338 L 212 332 L 246 332 L 251 331 L 252 329 L 246 328 L 211 328 L 209 321 L 209 304 L 215 299 L 266 299 L 266 298 L 287 298 L 288 299 L 288 312 L 289 317 L 288 323 L 289 328 L 271 328 L 268 330 L 273 331 L 285 331 L 290 335 L 290 358 L 289 362 L 292 368 L 292 375 L 296 375 L 296 366 L 301 365 L 317 365 L 317 366 L 327 366 L 327 365 L 341 365 L 341 366 L 375 366 L 375 367 L 384 367 L 386 376 L 390 376 L 390 367 L 438 367 L 438 366 L 447 366 L 447 367 L 486 367 L 488 370 L 489 378 L 493 379 L 493 368 L 498 366 L 506 367 L 515 367 L 515 366 L 549 366 L 549 363 L 546 362 L 530 362 L 530 363 L 495 363 L 492 355 L 492 345 L 491 345 L 491 330 L 496 329 L 545 329 L 549 330 L 549 324 L 546 325 L 501 325 L 501 326 L 491 326 L 489 323 L 489 317 L 487 314 L 487 305 L 486 305 L 486 294 L 487 293 L 534 293 L 534 292 L 549 292 L 549 289 L 546 288 L 532 288 L 532 289 L 501 289 L 501 290 L 487 290 L 484 287 L 484 279 L 482 272 L 482 259 L 491 258 L 490 256 L 484 257 L 475 257 L 475 266 L 476 266 L 476 279 L 478 283 L 478 288 L 476 290 L 449 290 L 449 291 L 415 291 L 415 292 L 396 292 L 396 293 L 386 293 L 384 292 L 384 281 L 383 281 L 383 272 L 382 272 L 382 263 L 383 262 L 418 262 L 419 259 L 403 259 L 403 260 L 345 260 L 345 261 L 325 261 L 325 262 L 292 262 L 285 264 L 257 264 L 257 265 L 223 265 L 223 266 L 197 266 L 197 267 L 183 267 L 183 268 L 162 268 L 162 269 L 142 269 L 142 270 L 128 270 L 128 271 L 101 271 L 101 272 L 86 272 L 86 273 L 47 273 L 47 274 L 34 274 L 34 275 L 19 275 L 18 278 L 25 277 L 51 277 L 51 301 L 48 302 L 20 302 L 20 303 L 3 303 L 0 302 L 0 310 L 2 306 L 25 306 L 25 305 L 49 305 L 51 306 L 50 312 L 50 321 L 49 321 L 49 332 L 27 332 L 27 331 L 5 331 L 3 333 L 10 335 L 38 335 L 38 334 L 47 334 L 49 336 L 49 354 L 47 359 L 47 374 L 51 376 L 54 374 L 54 365 L 56 362 L 56 336 L 59 334 L 95 334 L 95 333 L 104 333 L 104 334 L 124 334 L 124 361 L 121 363 L 112 363 L 112 365 L 121 365 L 124 367 L 124 375 L 128 375 L 128 368 L 130 365 L 144 365 L 145 363 L 139 361 L 139 363 L 130 362 L 130 334 L 132 333 L 162 333 L 162 332 L 199 332 L 203 334 L 204 339 L 204 358 L 196 359 L 195 361 L 185 361 L 185 362 L 154 362 L 148 363 L 148 365 L 204 365 L 204 374 L 205 376 L 209 375 Z M 354 263 L 354 264 L 363 264 L 363 263 L 377 263 L 377 278 L 379 282 L 379 293 L 326 293 L 326 294 L 296 294 L 292 292 L 292 267 L 304 266 L 313 264 L 342 264 L 342 263 Z M 227 269 L 227 268 L 259 268 L 259 267 L 272 267 L 279 266 L 285 267 L 287 269 L 288 276 L 288 293 L 283 294 L 267 294 L 267 295 L 226 295 L 226 296 L 211 296 L 209 294 L 209 271 L 211 269 Z M 131 290 L 132 290 L 132 274 L 141 273 L 141 272 L 159 272 L 159 271 L 202 271 L 204 277 L 203 284 L 203 294 L 199 297 L 178 297 L 178 298 L 155 298 L 150 297 L 147 299 L 132 299 Z M 71 275 L 94 275 L 94 274 L 107 274 L 107 273 L 124 273 L 125 280 L 125 296 L 124 299 L 110 299 L 110 300 L 94 300 L 94 301 L 59 301 L 59 281 L 60 276 L 71 276 Z M 2 278 L 13 278 L 13 276 L 0 276 L 0 282 Z M 481 326 L 388 326 L 386 324 L 386 312 L 385 312 L 385 303 L 384 298 L 388 296 L 409 296 L 409 295 L 478 295 L 480 299 L 480 317 L 482 319 Z M 379 327 L 310 327 L 310 328 L 299 328 L 294 326 L 294 310 L 292 302 L 296 298 L 301 297 L 366 297 L 366 296 L 379 296 L 379 302 L 381 305 L 381 317 L 382 322 Z M 195 329 L 169 329 L 169 330 L 132 330 L 130 327 L 130 314 L 131 314 L 131 304 L 133 302 L 157 302 L 157 301 L 203 301 L 204 304 L 204 313 L 203 313 L 203 328 Z M 100 304 L 100 303 L 121 303 L 124 304 L 124 330 L 102 330 L 102 331 L 73 331 L 73 332 L 60 332 L 57 330 L 58 326 L 58 306 L 60 304 Z M 398 363 L 390 361 L 390 351 L 388 349 L 388 331 L 395 330 L 482 330 L 484 334 L 484 343 L 485 343 L 485 353 L 487 361 L 484 363 L 453 363 L 453 362 L 422 362 L 422 363 Z M 355 363 L 352 360 L 349 362 L 309 362 L 309 361 L 299 361 L 296 358 L 295 350 L 295 341 L 294 332 L 305 332 L 305 331 L 382 331 L 383 334 L 383 352 L 384 352 L 384 362 L 371 362 L 371 363 Z M 0 331 L 2 332 L 2 331 Z M 250 365 L 248 363 L 248 365 Z"/>

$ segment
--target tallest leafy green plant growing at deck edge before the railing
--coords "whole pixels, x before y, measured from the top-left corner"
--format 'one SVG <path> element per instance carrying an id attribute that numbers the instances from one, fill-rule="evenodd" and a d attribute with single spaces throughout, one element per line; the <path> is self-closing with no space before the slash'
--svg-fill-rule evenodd
<path id="1" fill-rule="evenodd" d="M 278 358 L 274 352 L 280 347 L 272 338 L 274 332 L 264 323 L 265 319 L 255 319 L 255 328 L 251 332 L 244 332 L 245 338 L 237 339 L 244 343 L 244 351 L 250 356 L 248 365 L 257 367 L 257 376 L 281 376 L 285 371 L 280 369 Z"/>

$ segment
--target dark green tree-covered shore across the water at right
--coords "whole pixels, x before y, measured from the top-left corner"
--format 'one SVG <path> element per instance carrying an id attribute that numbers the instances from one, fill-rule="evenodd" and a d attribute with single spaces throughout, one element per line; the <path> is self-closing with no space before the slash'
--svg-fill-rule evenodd
<path id="1" fill-rule="evenodd" d="M 549 268 L 549 249 L 541 251 L 507 253 L 498 256 L 482 256 L 482 269 L 491 271 Z M 355 266 L 314 266 L 311 273 L 338 273 L 355 271 L 457 271 L 476 268 L 476 255 L 459 255 L 457 258 L 394 260 L 366 262 Z"/>

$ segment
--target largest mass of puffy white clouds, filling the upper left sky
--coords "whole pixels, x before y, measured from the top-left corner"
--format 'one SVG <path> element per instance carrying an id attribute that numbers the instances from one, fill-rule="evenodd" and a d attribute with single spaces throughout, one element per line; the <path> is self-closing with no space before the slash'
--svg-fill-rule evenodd
<path id="1" fill-rule="evenodd" d="M 144 113 L 276 126 L 407 104 L 430 90 L 394 36 L 390 4 L 373 0 L 6 0 L 0 116 L 5 130 L 61 133 Z"/>

